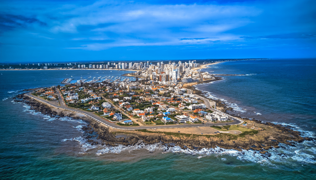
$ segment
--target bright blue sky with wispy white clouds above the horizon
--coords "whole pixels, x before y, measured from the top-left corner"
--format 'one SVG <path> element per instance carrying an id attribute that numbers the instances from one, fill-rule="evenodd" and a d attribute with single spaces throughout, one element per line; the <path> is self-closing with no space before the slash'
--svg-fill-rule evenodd
<path id="1" fill-rule="evenodd" d="M 315 0 L 2 0 L 1 62 L 315 58 Z"/>

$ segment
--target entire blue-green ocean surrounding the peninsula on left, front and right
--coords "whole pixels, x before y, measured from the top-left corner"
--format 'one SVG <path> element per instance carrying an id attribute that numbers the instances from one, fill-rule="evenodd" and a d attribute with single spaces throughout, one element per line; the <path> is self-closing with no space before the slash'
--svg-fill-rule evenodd
<path id="1" fill-rule="evenodd" d="M 234 108 L 233 114 L 277 122 L 315 138 L 315 59 L 233 61 L 202 71 L 223 80 L 197 85 Z M 184 150 L 161 144 L 91 146 L 82 137 L 85 122 L 34 112 L 13 97 L 21 90 L 58 85 L 127 71 L 1 71 L 1 179 L 314 179 L 315 141 L 281 145 L 269 156 L 222 148 Z M 71 77 L 73 76 L 73 77 Z M 62 84 L 60 84 L 62 85 Z"/>

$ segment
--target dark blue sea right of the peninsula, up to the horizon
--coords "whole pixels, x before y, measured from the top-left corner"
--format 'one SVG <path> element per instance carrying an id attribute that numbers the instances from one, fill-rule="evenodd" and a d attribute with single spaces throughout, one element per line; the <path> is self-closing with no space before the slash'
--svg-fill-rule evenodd
<path id="1" fill-rule="evenodd" d="M 316 59 L 223 62 L 205 70 L 213 74 L 246 74 L 222 76 L 222 81 L 197 85 L 210 96 L 230 102 L 234 114 L 295 123 L 315 132 Z"/>

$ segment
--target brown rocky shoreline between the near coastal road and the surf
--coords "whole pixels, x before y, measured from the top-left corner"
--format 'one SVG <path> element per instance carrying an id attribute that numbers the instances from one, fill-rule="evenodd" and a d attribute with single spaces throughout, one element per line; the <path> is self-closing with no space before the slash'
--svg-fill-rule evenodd
<path id="1" fill-rule="evenodd" d="M 245 122 L 252 122 L 256 127 L 262 128 L 264 131 L 253 132 L 243 136 L 231 135 L 228 133 L 221 133 L 218 135 L 193 135 L 173 133 L 168 134 L 165 132 L 152 132 L 152 131 L 134 131 L 134 130 L 117 130 L 109 129 L 100 123 L 84 116 L 81 113 L 74 113 L 64 109 L 56 109 L 44 103 L 36 101 L 24 94 L 20 94 L 15 100 L 16 102 L 23 102 L 30 106 L 34 111 L 41 112 L 51 117 L 72 117 L 74 119 L 82 119 L 87 123 L 82 127 L 83 136 L 91 145 L 102 144 L 109 146 L 117 146 L 119 144 L 125 146 L 144 144 L 162 143 L 162 145 L 173 146 L 175 144 L 182 149 L 199 150 L 201 148 L 225 148 L 235 149 L 241 151 L 242 149 L 253 149 L 260 153 L 266 153 L 266 150 L 271 148 L 280 148 L 279 144 L 284 143 L 290 146 L 295 146 L 295 143 L 303 142 L 304 140 L 313 140 L 313 138 L 302 137 L 300 132 L 294 131 L 289 127 L 276 125 L 273 123 L 263 123 L 256 119 L 241 118 Z M 225 105 L 223 105 L 225 106 Z M 229 109 L 229 108 L 228 108 Z M 91 138 L 97 136 L 98 141 Z M 127 136 L 117 136 L 117 134 L 125 134 Z M 282 147 L 282 146 L 281 146 Z"/>

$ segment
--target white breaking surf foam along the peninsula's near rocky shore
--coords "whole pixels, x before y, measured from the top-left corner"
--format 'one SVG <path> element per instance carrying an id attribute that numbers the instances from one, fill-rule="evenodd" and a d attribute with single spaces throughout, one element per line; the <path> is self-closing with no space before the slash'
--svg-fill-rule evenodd
<path id="1" fill-rule="evenodd" d="M 78 126 L 77 126 L 78 127 Z M 304 141 L 302 143 L 296 143 L 296 147 L 292 147 L 286 144 L 280 144 L 281 148 L 274 148 L 267 150 L 267 154 L 260 154 L 258 151 L 254 150 L 242 150 L 237 151 L 234 149 L 223 149 L 223 148 L 202 148 L 200 150 L 182 149 L 179 146 L 168 147 L 161 145 L 161 143 L 145 145 L 143 143 L 134 146 L 124 146 L 118 145 L 115 147 L 106 145 L 91 145 L 83 137 L 76 137 L 73 139 L 64 139 L 63 141 L 78 141 L 82 151 L 81 153 L 86 153 L 89 149 L 96 149 L 96 155 L 102 155 L 105 153 L 116 153 L 119 154 L 123 151 L 132 151 L 137 149 L 147 149 L 148 151 L 162 150 L 169 153 L 185 153 L 185 154 L 198 154 L 198 159 L 205 157 L 207 155 L 216 154 L 219 157 L 224 155 L 234 156 L 240 161 L 255 162 L 261 165 L 274 165 L 274 162 L 288 163 L 291 161 L 300 163 L 311 163 L 316 164 L 315 160 L 315 148 L 314 141 Z M 222 157 L 221 160 L 226 160 Z M 294 163 L 295 164 L 295 163 Z"/>

